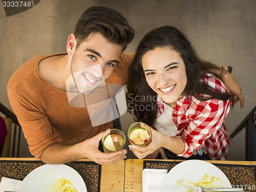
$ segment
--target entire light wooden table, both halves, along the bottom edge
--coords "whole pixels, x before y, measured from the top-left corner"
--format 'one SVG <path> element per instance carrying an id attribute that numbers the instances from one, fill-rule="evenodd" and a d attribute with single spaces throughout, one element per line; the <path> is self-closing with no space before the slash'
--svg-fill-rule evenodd
<path id="1" fill-rule="evenodd" d="M 0 158 L 7 161 L 38 161 L 35 158 Z M 77 161 L 91 161 L 89 159 L 80 159 Z M 101 165 L 100 191 L 142 191 L 142 170 L 143 161 L 140 159 L 120 160 L 116 164 Z M 151 160 L 154 161 L 154 160 Z M 181 162 L 183 160 L 156 160 Z M 208 161 L 218 164 L 238 164 L 255 165 L 256 161 Z"/>

